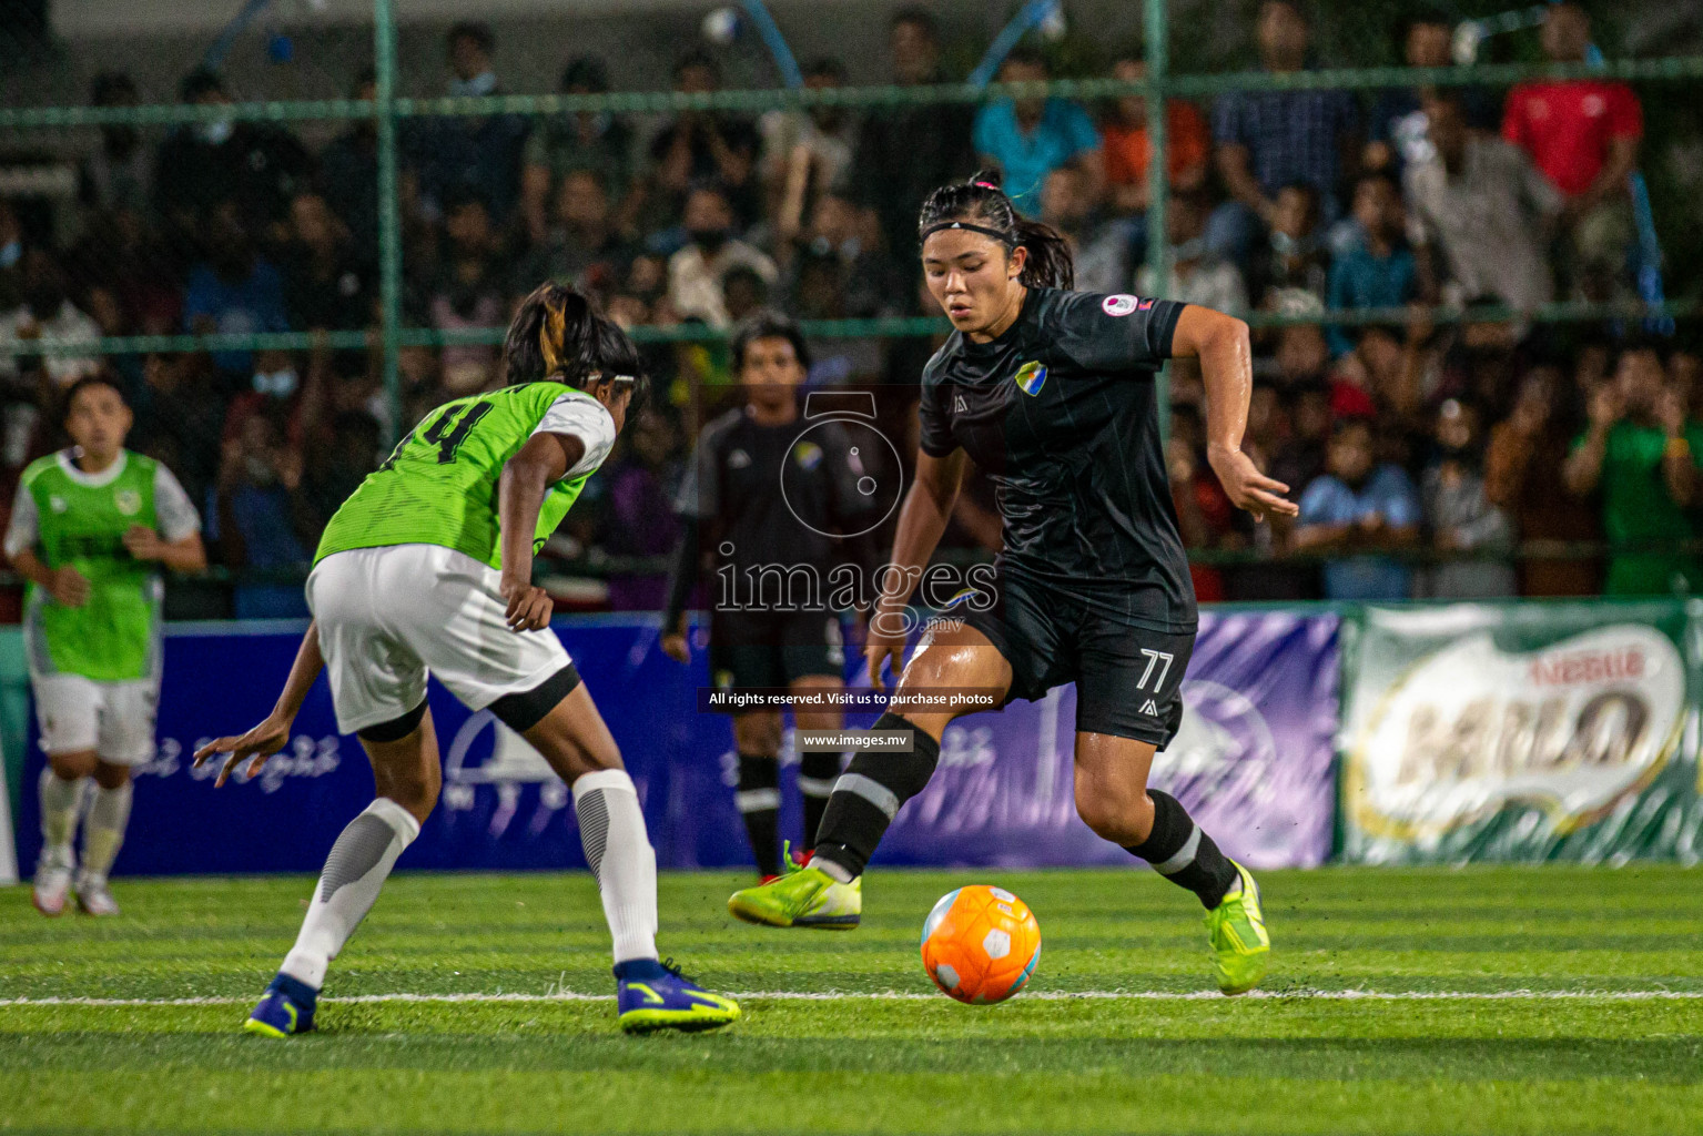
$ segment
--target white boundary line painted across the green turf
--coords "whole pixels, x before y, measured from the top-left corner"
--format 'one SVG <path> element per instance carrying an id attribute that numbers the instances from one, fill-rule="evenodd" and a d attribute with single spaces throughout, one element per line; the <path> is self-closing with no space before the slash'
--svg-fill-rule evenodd
<path id="1" fill-rule="evenodd" d="M 935 1001 L 937 993 L 911 990 L 880 990 L 872 993 L 824 991 L 804 993 L 795 990 L 746 991 L 729 995 L 746 1001 Z M 1173 991 L 1173 990 L 1035 990 L 1022 996 L 1024 1001 L 1218 1001 L 1223 995 L 1216 990 Z M 1264 1001 L 1694 1001 L 1703 1000 L 1703 990 L 1255 990 L 1241 995 L 1247 1000 Z M 9 1007 L 225 1007 L 245 1005 L 252 998 L 209 996 L 209 998 L 0 998 L 0 1008 Z M 448 993 L 448 995 L 351 995 L 346 998 L 325 998 L 327 1005 L 383 1005 L 383 1003 L 533 1003 L 533 1001 L 615 1001 L 615 995 L 581 995 L 560 991 L 548 995 L 511 995 L 511 993 Z"/>

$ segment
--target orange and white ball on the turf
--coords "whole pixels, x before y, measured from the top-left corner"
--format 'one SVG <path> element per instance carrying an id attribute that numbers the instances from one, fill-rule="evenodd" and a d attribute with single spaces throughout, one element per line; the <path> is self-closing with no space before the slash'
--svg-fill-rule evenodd
<path id="1" fill-rule="evenodd" d="M 1003 887 L 959 887 L 923 921 L 923 967 L 959 1001 L 1005 1001 L 1029 983 L 1039 961 L 1041 925 Z"/>

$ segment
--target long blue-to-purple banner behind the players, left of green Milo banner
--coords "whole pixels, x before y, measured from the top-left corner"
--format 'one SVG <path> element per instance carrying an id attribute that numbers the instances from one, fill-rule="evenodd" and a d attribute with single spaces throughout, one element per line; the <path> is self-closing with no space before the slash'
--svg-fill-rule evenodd
<path id="1" fill-rule="evenodd" d="M 557 632 L 634 775 L 657 862 L 749 865 L 732 800 L 729 717 L 695 710 L 695 690 L 708 680 L 702 652 L 691 668 L 671 663 L 645 620 L 562 620 Z M 167 635 L 158 754 L 138 768 L 118 872 L 318 870 L 337 831 L 373 794 L 359 743 L 337 736 L 324 683 L 308 697 L 290 746 L 252 782 L 237 778 L 215 792 L 216 765 L 191 770 L 187 761 L 209 734 L 245 729 L 266 714 L 298 639 L 295 627 L 235 625 Z M 1184 800 L 1250 867 L 1323 862 L 1333 812 L 1335 617 L 1207 615 L 1184 698 L 1182 732 L 1156 760 L 1155 787 Z M 543 758 L 489 714 L 468 715 L 436 683 L 431 707 L 444 758 L 443 799 L 404 867 L 584 867 L 567 787 Z M 954 722 L 940 772 L 899 812 L 877 863 L 1129 863 L 1129 853 L 1076 819 L 1075 714 L 1075 688 L 1066 686 L 1042 702 Z M 846 726 L 867 727 L 874 717 L 848 714 Z M 34 744 L 26 768 L 17 836 L 27 870 L 41 843 Z M 800 811 L 788 770 L 783 833 L 799 831 Z"/>

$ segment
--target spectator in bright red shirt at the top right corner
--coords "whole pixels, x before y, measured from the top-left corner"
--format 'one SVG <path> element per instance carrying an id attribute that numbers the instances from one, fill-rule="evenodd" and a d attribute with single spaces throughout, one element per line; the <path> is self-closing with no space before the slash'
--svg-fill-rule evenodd
<path id="1" fill-rule="evenodd" d="M 1567 0 L 1543 20 L 1543 53 L 1580 63 L 1591 46 L 1591 17 Z M 1643 111 L 1626 83 L 1596 78 L 1519 83 L 1507 95 L 1502 136 L 1567 196 L 1570 276 L 1591 296 L 1613 281 L 1631 244 L 1626 175 L 1638 164 Z"/>

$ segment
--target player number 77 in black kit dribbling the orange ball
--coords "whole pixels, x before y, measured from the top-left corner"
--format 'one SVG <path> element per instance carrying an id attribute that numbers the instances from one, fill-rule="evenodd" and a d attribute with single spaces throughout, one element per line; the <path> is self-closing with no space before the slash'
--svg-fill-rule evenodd
<path id="1" fill-rule="evenodd" d="M 862 874 L 894 814 L 928 783 L 947 724 L 981 705 L 903 709 L 909 690 L 1000 690 L 1041 698 L 1076 683 L 1076 812 L 1095 833 L 1187 887 L 1207 909 L 1226 995 L 1265 974 L 1270 938 L 1259 889 L 1182 804 L 1150 790 L 1156 749 L 1182 720 L 1196 601 L 1177 535 L 1153 375 L 1196 356 L 1207 393 L 1207 456 L 1230 499 L 1264 518 L 1294 514 L 1286 485 L 1241 453 L 1252 370 L 1248 329 L 1207 308 L 1069 291 L 1069 249 L 1020 220 L 988 181 L 937 189 L 920 235 L 928 290 L 955 332 L 923 371 L 921 453 L 892 564 L 920 576 L 933 555 L 966 455 L 1000 489 L 1005 547 L 986 603 L 960 594 L 962 623 L 932 627 L 877 731 L 909 753 L 860 753 L 834 785 L 816 858 L 729 909 L 777 927 L 848 927 Z M 897 673 L 903 594 L 884 594 L 867 647 L 870 680 Z"/>

